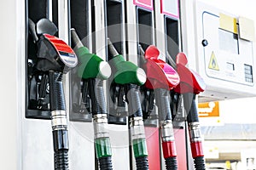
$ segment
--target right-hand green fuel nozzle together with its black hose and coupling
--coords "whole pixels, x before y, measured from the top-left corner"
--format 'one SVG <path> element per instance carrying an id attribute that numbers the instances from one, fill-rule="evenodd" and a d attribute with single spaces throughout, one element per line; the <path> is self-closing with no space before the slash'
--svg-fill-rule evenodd
<path id="1" fill-rule="evenodd" d="M 125 88 L 125 99 L 130 113 L 131 144 L 136 158 L 137 169 L 148 170 L 148 150 L 143 124 L 143 111 L 141 107 L 139 88 L 146 82 L 143 69 L 130 61 L 125 61 L 118 54 L 108 39 L 108 49 L 112 54 L 110 65 L 113 68 L 113 81 Z"/>

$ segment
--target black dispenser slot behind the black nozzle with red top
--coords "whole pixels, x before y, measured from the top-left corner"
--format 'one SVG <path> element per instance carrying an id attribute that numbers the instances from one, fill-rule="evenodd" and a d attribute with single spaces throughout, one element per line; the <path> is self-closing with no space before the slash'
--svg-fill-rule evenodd
<path id="1" fill-rule="evenodd" d="M 50 119 L 49 78 L 34 69 L 37 45 L 28 31 L 28 20 L 49 19 L 49 10 L 48 0 L 26 0 L 26 118 Z"/>

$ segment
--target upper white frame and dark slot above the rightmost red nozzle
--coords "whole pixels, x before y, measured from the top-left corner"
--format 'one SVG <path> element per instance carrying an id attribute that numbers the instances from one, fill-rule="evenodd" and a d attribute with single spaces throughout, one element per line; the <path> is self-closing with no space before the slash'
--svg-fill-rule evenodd
<path id="1" fill-rule="evenodd" d="M 175 61 L 181 50 L 179 0 L 154 1 L 156 46 L 165 54 L 167 62 Z M 172 59 L 170 59 L 172 57 Z M 175 63 L 172 63 L 175 65 Z"/>

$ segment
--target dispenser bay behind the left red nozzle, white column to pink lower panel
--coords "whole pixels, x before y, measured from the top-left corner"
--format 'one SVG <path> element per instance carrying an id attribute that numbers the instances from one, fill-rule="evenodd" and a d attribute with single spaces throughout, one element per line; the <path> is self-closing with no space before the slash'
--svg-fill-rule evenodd
<path id="1" fill-rule="evenodd" d="M 149 45 L 155 43 L 154 1 L 126 1 L 125 6 L 127 11 L 126 42 L 127 54 L 129 54 L 127 59 L 140 66 L 142 65 L 140 48 L 145 51 Z M 147 97 L 147 95 L 145 96 Z M 154 147 L 148 147 L 149 168 L 157 168 L 160 167 L 160 133 L 157 111 L 152 111 L 150 116 L 144 119 L 144 123 L 147 144 L 154 145 Z"/>

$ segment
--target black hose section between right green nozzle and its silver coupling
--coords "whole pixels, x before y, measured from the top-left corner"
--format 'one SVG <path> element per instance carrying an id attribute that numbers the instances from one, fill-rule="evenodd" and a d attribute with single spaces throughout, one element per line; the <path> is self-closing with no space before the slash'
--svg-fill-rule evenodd
<path id="1" fill-rule="evenodd" d="M 126 96 L 129 104 L 129 112 L 131 116 L 143 116 L 141 100 L 139 96 L 140 87 L 136 84 L 126 86 Z"/>

